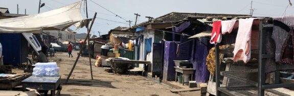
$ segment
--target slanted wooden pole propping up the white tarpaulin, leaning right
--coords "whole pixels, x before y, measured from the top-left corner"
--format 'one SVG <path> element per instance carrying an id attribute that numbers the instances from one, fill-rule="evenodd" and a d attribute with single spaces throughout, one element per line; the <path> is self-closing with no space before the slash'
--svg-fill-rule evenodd
<path id="1" fill-rule="evenodd" d="M 84 42 L 86 42 L 86 40 L 87 40 L 88 37 L 89 37 L 89 34 L 90 34 L 91 29 L 92 29 L 93 23 L 94 23 L 94 21 L 95 21 L 96 15 L 97 15 L 97 12 L 95 12 L 95 14 L 94 14 L 94 18 L 92 19 L 92 22 L 91 22 L 91 26 L 90 26 L 89 30 L 87 30 L 88 33 L 87 33 L 87 35 L 86 35 L 86 38 L 85 38 Z M 70 79 L 70 77 L 71 77 L 71 75 L 72 75 L 72 73 L 73 73 L 73 71 L 74 71 L 74 69 L 75 69 L 75 67 L 76 67 L 76 65 L 77 65 L 77 62 L 78 62 L 78 60 L 79 60 L 79 58 L 80 58 L 80 56 L 81 56 L 81 54 L 82 54 L 82 50 L 84 49 L 84 46 L 85 46 L 85 43 L 83 43 L 83 45 L 82 45 L 82 47 L 81 47 L 81 49 L 80 49 L 80 53 L 79 53 L 79 55 L 78 55 L 78 57 L 77 57 L 77 59 L 76 59 L 74 65 L 73 65 L 73 68 L 72 68 L 72 70 L 71 70 L 69 76 L 67 76 L 65 83 L 67 83 L 67 82 L 69 81 L 69 79 Z"/>

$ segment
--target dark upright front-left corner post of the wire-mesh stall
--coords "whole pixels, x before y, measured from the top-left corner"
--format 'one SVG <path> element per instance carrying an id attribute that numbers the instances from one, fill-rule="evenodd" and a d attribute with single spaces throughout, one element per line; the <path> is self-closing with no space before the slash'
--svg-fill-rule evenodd
<path id="1" fill-rule="evenodd" d="M 220 84 L 219 84 L 219 76 L 220 76 L 220 72 L 219 72 L 219 44 L 215 44 L 215 88 L 216 88 L 216 96 L 220 95 L 220 91 L 218 91 L 218 87 L 220 87 Z"/>

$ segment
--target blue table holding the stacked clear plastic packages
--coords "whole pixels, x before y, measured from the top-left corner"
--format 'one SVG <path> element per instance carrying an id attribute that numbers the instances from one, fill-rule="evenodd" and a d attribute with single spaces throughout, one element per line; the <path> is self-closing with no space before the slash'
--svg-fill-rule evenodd
<path id="1" fill-rule="evenodd" d="M 32 88 L 36 90 L 51 90 L 51 95 L 59 95 L 61 91 L 61 77 L 29 77 L 22 82 L 22 88 Z M 59 88 L 58 88 L 59 87 Z M 55 91 L 57 93 L 55 94 Z M 47 92 L 45 92 L 47 95 Z"/>

